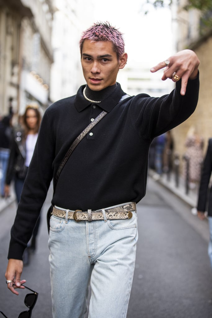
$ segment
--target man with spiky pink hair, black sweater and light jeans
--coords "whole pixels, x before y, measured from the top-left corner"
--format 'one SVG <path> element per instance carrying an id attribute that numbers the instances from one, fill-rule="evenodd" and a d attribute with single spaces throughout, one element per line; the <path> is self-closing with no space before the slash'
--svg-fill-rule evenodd
<path id="1" fill-rule="evenodd" d="M 154 66 L 151 72 L 164 68 L 162 80 L 176 82 L 170 94 L 155 98 L 129 96 L 116 82 L 127 53 L 122 33 L 109 23 L 83 32 L 80 53 L 86 84 L 44 113 L 11 229 L 5 277 L 12 293 L 24 288 L 22 255 L 53 178 L 58 180 L 49 232 L 53 318 L 84 317 L 89 284 L 89 318 L 123 318 L 138 239 L 136 203 L 146 192 L 149 147 L 194 112 L 199 60 L 184 50 Z M 70 145 L 99 118 L 66 156 L 58 178 Z"/>

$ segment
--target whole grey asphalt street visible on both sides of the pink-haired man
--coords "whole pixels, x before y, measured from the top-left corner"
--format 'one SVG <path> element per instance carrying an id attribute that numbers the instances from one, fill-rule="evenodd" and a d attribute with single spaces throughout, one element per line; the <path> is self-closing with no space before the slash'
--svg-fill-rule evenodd
<path id="1" fill-rule="evenodd" d="M 37 252 L 31 255 L 30 265 L 24 267 L 22 275 L 26 286 L 39 293 L 32 318 L 51 318 L 45 219 L 50 197 L 51 193 L 43 208 Z M 187 204 L 152 179 L 148 180 L 147 195 L 141 202 L 137 205 L 139 240 L 127 318 L 211 318 L 207 221 L 194 217 Z M 12 295 L 4 279 L 15 208 L 13 203 L 0 213 L 0 310 L 8 318 L 17 317 L 26 309 L 27 294 L 21 291 L 18 297 Z"/>

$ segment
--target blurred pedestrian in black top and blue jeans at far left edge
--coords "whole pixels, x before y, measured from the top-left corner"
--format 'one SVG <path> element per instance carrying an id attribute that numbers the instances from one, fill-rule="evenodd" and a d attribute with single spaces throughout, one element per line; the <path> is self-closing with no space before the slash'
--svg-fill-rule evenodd
<path id="1" fill-rule="evenodd" d="M 0 167 L 2 169 L 1 197 L 4 197 L 4 184 L 10 157 L 10 141 L 12 136 L 11 116 L 4 116 L 0 122 Z"/>

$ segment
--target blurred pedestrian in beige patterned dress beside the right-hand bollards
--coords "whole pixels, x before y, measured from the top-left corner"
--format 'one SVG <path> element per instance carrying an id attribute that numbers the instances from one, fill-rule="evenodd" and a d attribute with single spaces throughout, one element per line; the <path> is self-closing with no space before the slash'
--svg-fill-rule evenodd
<path id="1" fill-rule="evenodd" d="M 191 126 L 185 142 L 186 152 L 184 155 L 184 177 L 188 176 L 190 189 L 194 189 L 200 181 L 203 161 L 204 139 L 199 135 L 197 128 Z M 188 164 L 187 164 L 188 161 Z"/>

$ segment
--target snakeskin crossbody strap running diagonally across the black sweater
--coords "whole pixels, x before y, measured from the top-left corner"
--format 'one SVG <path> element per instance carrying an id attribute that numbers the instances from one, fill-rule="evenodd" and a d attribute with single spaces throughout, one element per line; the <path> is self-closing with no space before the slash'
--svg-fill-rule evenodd
<path id="1" fill-rule="evenodd" d="M 65 157 L 63 159 L 63 161 L 61 162 L 58 171 L 56 173 L 55 176 L 55 180 L 54 180 L 54 191 L 56 189 L 56 185 L 58 183 L 58 178 L 59 175 L 63 169 L 63 167 L 65 166 L 65 163 L 67 162 L 68 158 L 70 157 L 72 151 L 77 147 L 77 145 L 79 144 L 79 142 L 85 137 L 85 135 L 87 135 L 87 133 L 103 118 L 105 117 L 105 115 L 107 114 L 107 112 L 105 112 L 104 110 L 99 114 L 99 116 L 97 116 L 94 121 L 92 121 L 82 132 L 81 134 L 75 139 L 75 141 L 72 143 L 71 147 L 68 149 L 68 151 L 65 154 Z"/>

